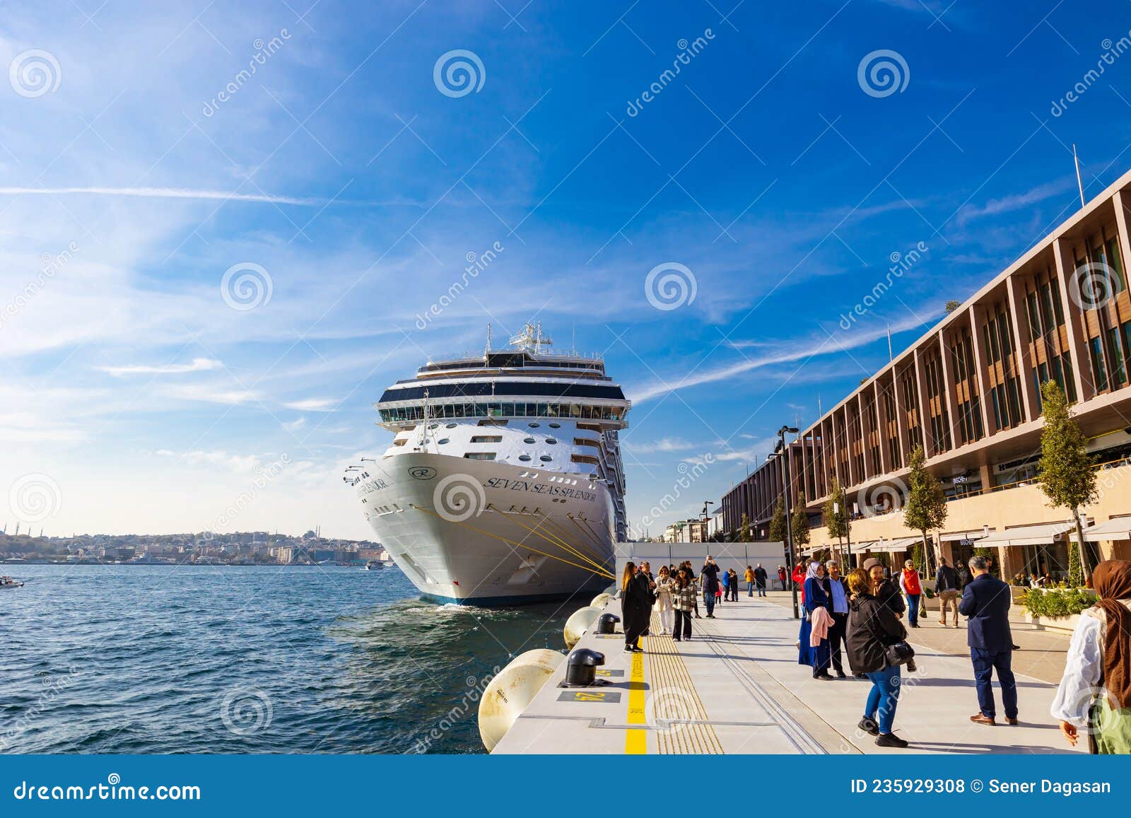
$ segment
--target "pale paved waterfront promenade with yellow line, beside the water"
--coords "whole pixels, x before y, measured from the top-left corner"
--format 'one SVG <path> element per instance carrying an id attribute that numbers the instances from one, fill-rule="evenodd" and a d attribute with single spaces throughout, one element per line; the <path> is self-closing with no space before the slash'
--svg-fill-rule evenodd
<path id="1" fill-rule="evenodd" d="M 904 674 L 896 734 L 907 750 L 879 748 L 857 730 L 870 682 L 815 681 L 797 664 L 797 621 L 788 595 L 748 597 L 716 608 L 717 619 L 697 619 L 694 638 L 675 643 L 644 637 L 646 653 L 623 652 L 623 637 L 587 634 L 577 647 L 605 654 L 599 688 L 556 687 L 564 664 L 515 723 L 499 754 L 1055 754 L 1078 752 L 1063 741 L 1048 715 L 1055 684 L 1018 674 L 1018 726 L 972 724 L 977 712 L 973 674 L 965 653 L 965 626 L 913 630 L 918 672 Z M 608 603 L 620 613 L 620 603 Z M 653 632 L 658 634 L 653 617 Z M 923 643 L 917 637 L 923 635 Z M 1044 662 L 1042 675 L 1062 663 L 1068 638 L 1019 632 Z M 942 643 L 947 644 L 942 644 Z M 956 643 L 951 646 L 949 643 Z M 1057 649 L 1053 649 L 1057 648 Z M 1019 654 L 1024 656 L 1026 651 Z M 1018 663 L 1018 670 L 1028 658 Z M 999 696 L 1000 707 L 1000 691 Z"/>

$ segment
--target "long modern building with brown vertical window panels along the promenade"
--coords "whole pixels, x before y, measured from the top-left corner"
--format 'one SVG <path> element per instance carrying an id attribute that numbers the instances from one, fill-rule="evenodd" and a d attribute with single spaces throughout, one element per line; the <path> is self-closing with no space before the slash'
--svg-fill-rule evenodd
<path id="1" fill-rule="evenodd" d="M 829 545 L 820 513 L 837 482 L 854 517 L 853 553 L 903 559 L 921 541 L 899 514 L 921 445 L 950 500 L 938 553 L 962 560 L 975 546 L 996 548 L 1003 572 L 1056 578 L 1074 536 L 1070 514 L 1048 507 L 1034 482 L 1041 384 L 1054 380 L 1103 471 L 1100 498 L 1085 509 L 1094 559 L 1131 557 L 1129 206 L 1131 173 L 802 430 L 784 458 L 732 488 L 724 528 L 735 534 L 748 514 L 765 537 L 788 473 L 814 548 Z"/>

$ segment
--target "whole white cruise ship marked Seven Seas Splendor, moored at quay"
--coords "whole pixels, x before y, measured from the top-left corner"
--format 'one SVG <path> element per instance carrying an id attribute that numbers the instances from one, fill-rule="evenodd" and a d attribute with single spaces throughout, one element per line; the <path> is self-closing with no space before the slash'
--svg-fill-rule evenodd
<path id="1" fill-rule="evenodd" d="M 432 600 L 508 605 L 599 592 L 627 539 L 619 431 L 631 402 L 599 355 L 506 350 L 429 361 L 374 404 L 394 433 L 346 470 L 365 519 Z"/>

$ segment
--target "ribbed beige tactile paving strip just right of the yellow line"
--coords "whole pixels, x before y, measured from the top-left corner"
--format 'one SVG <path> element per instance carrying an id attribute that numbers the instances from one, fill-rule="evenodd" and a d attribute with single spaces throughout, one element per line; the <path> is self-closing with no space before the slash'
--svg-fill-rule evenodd
<path id="1" fill-rule="evenodd" d="M 659 614 L 653 612 L 649 631 L 661 632 Z M 648 657 L 648 711 L 655 725 L 659 755 L 723 755 L 723 744 L 710 725 L 707 709 L 691 681 L 683 657 L 671 636 L 646 636 Z M 633 656 L 633 658 L 637 658 Z M 661 725 L 659 722 L 665 722 Z M 671 723 L 667 723 L 671 722 Z"/>

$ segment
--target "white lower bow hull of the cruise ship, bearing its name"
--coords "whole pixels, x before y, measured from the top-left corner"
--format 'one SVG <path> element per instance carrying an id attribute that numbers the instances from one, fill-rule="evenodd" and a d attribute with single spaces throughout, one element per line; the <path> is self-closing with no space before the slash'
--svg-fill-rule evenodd
<path id="1" fill-rule="evenodd" d="M 368 464 L 355 489 L 378 540 L 430 599 L 519 604 L 613 583 L 612 498 L 588 476 L 398 453 Z"/>

